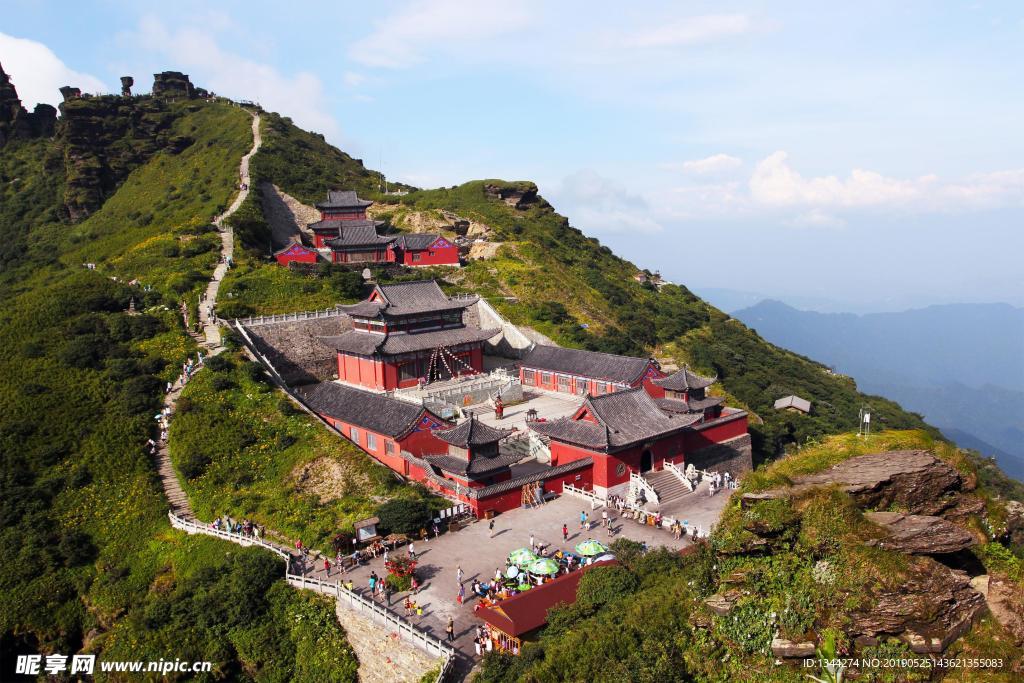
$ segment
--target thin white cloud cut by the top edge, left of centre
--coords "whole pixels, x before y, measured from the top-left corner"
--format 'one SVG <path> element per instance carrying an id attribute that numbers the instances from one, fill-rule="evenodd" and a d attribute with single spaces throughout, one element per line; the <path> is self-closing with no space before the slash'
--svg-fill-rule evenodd
<path id="1" fill-rule="evenodd" d="M 530 26 L 528 3 L 511 0 L 500 9 L 462 0 L 416 0 L 378 22 L 374 31 L 349 48 L 368 67 L 407 69 L 437 50 L 472 50 L 494 38 Z"/>

